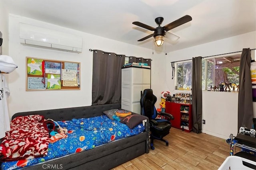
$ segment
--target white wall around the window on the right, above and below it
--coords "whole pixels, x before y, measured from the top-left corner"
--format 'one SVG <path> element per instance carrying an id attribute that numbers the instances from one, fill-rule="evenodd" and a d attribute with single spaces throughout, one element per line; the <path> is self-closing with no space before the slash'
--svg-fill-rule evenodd
<path id="1" fill-rule="evenodd" d="M 192 59 L 192 57 L 207 57 L 236 51 L 243 48 L 255 49 L 256 31 L 230 37 L 203 45 L 182 49 L 168 53 L 166 59 L 166 84 L 172 94 L 176 93 L 174 79 L 171 79 L 172 61 Z M 254 51 L 252 51 L 254 53 Z M 254 56 L 254 55 L 253 55 Z M 191 92 L 191 91 L 190 91 Z M 255 108 L 255 102 L 254 102 Z M 207 92 L 202 93 L 202 118 L 206 124 L 202 126 L 202 131 L 216 137 L 227 139 L 230 133 L 237 134 L 238 117 L 238 93 L 237 92 Z M 254 109 L 254 117 L 256 110 Z"/>

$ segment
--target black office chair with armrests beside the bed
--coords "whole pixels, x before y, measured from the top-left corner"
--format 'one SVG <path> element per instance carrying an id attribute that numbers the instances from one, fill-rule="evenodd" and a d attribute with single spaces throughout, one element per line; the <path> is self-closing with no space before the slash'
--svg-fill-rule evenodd
<path id="1" fill-rule="evenodd" d="M 172 127 L 171 119 L 174 117 L 168 113 L 158 113 L 154 104 L 156 103 L 156 96 L 153 94 L 152 89 L 145 89 L 140 98 L 141 114 L 148 117 L 150 122 L 150 147 L 154 150 L 153 140 L 159 139 L 169 145 L 168 141 L 164 140 L 163 137 L 168 135 Z M 158 115 L 164 116 L 165 119 L 156 118 Z"/>

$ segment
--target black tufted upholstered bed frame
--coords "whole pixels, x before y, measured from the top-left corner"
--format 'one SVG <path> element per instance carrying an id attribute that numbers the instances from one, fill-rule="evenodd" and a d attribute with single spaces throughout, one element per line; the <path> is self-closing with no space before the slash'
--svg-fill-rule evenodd
<path id="1" fill-rule="evenodd" d="M 120 109 L 120 104 L 105 104 L 96 106 L 72 107 L 64 109 L 50 109 L 40 111 L 28 111 L 16 113 L 12 116 L 14 119 L 17 116 L 40 114 L 44 115 L 45 119 L 51 118 L 56 121 L 71 120 L 73 118 L 87 118 L 103 115 L 103 111 L 110 109 Z M 145 117 L 145 119 L 148 119 Z M 149 124 L 145 123 L 143 133 L 117 140 L 91 150 L 85 150 L 75 154 L 70 154 L 41 164 L 36 164 L 24 168 L 26 170 L 42 169 L 46 167 L 58 168 L 62 170 L 108 170 L 114 168 L 124 162 L 132 160 L 144 153 L 149 152 Z M 44 165 L 44 166 L 43 166 Z"/>

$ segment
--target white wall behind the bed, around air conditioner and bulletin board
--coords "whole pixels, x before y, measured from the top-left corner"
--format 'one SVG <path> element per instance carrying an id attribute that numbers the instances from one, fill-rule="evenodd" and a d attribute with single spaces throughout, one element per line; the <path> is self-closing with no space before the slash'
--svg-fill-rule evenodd
<path id="1" fill-rule="evenodd" d="M 81 54 L 76 54 L 21 45 L 19 42 L 19 22 L 82 36 L 83 51 Z M 14 59 L 18 68 L 9 74 L 9 88 L 11 91 L 9 97 L 9 115 L 12 116 L 14 113 L 21 111 L 90 106 L 92 104 L 93 53 L 89 49 L 99 49 L 126 56 L 151 58 L 153 60 L 152 89 L 162 89 L 161 86 L 164 86 L 153 82 L 165 82 L 165 75 L 157 75 L 159 69 L 162 70 L 158 68 L 158 64 L 165 63 L 165 56 L 161 56 L 160 54 L 152 55 L 152 50 L 149 49 L 10 14 L 9 55 Z M 26 91 L 26 57 L 80 62 L 81 90 Z"/>

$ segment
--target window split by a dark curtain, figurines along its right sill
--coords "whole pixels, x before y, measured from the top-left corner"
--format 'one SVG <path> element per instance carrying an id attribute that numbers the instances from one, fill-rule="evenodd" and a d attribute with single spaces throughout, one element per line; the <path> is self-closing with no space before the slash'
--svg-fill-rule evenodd
<path id="1" fill-rule="evenodd" d="M 241 53 L 202 59 L 202 90 L 237 91 Z M 191 89 L 192 61 L 177 63 L 176 86 Z"/>

